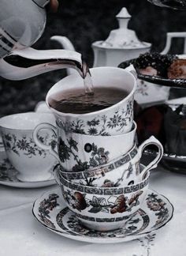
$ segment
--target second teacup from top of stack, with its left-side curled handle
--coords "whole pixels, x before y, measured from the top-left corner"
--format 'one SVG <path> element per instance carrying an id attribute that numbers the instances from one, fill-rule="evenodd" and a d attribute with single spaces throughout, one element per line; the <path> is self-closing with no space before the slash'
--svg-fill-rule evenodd
<path id="1" fill-rule="evenodd" d="M 58 152 L 50 145 L 43 144 L 38 139 L 40 130 L 52 130 L 58 134 Z M 117 156 L 121 156 L 132 149 L 135 144 L 136 123 L 132 130 L 126 134 L 116 136 L 91 136 L 84 134 L 65 134 L 58 126 L 41 123 L 34 130 L 33 137 L 39 148 L 49 150 L 61 164 L 65 171 L 85 171 L 107 164 Z"/>

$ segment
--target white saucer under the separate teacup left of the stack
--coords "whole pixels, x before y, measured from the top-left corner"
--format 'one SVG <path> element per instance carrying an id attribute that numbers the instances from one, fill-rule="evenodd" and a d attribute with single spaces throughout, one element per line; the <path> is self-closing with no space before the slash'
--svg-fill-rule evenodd
<path id="1" fill-rule="evenodd" d="M 6 152 L 0 150 L 0 184 L 6 186 L 14 186 L 20 188 L 36 188 L 43 186 L 51 186 L 56 184 L 54 177 L 52 175 L 53 168 L 51 169 L 51 179 L 37 181 L 37 182 L 22 182 L 17 179 L 18 171 L 13 168 L 9 163 L 9 160 L 6 158 Z"/>

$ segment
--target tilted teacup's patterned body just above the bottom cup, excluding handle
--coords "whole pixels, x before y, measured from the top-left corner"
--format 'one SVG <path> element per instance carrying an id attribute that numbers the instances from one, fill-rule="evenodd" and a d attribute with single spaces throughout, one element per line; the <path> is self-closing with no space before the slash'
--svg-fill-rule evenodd
<path id="1" fill-rule="evenodd" d="M 139 179 L 139 160 L 136 145 L 125 155 L 111 160 L 108 164 L 99 165 L 86 171 L 62 171 L 59 172 L 65 179 L 72 180 L 84 186 L 117 187 L 132 185 L 132 179 Z M 134 173 L 136 175 L 134 175 Z M 98 185 L 99 184 L 99 185 Z"/>

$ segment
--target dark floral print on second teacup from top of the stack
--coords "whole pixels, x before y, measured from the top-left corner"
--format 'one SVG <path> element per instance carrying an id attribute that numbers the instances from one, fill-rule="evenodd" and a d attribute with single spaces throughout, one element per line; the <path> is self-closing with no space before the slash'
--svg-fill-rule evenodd
<path id="1" fill-rule="evenodd" d="M 67 139 L 67 143 L 65 143 L 61 137 L 58 138 L 58 154 L 61 162 L 65 163 L 65 161 L 70 160 L 71 157 L 76 161 L 72 171 L 84 171 L 88 168 L 95 168 L 108 162 L 108 155 L 110 152 L 105 151 L 104 148 L 98 148 L 95 143 L 87 143 L 84 145 L 84 150 L 86 152 L 91 152 L 91 157 L 88 162 L 80 160 L 80 157 L 77 154 L 79 150 L 78 143 L 73 140 L 72 137 Z"/>

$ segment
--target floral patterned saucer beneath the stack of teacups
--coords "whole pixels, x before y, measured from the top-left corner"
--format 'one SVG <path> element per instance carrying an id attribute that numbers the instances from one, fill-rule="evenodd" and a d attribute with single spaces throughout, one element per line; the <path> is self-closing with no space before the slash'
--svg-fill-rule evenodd
<path id="1" fill-rule="evenodd" d="M 61 209 L 58 210 L 58 206 L 60 206 Z M 47 225 L 48 228 L 56 229 L 56 231 L 61 234 L 68 233 L 69 235 L 85 236 L 91 239 L 118 239 L 126 235 L 138 235 L 141 232 L 151 232 L 161 228 L 162 225 L 165 225 L 173 216 L 173 205 L 171 205 L 166 198 L 153 190 L 148 190 L 142 208 L 132 216 L 115 217 L 113 215 L 112 218 L 100 219 L 87 217 L 81 213 L 74 214 L 68 207 L 61 204 L 60 196 L 56 193 L 47 194 L 38 202 L 38 205 L 36 204 L 34 207 L 36 209 L 36 217 L 42 224 Z M 55 211 L 56 213 L 54 213 Z M 85 219 L 98 224 L 100 224 L 100 222 L 118 223 L 124 218 L 128 220 L 124 228 L 118 228 L 117 230 L 108 232 L 91 230 L 82 225 L 80 221 L 80 219 Z"/>

